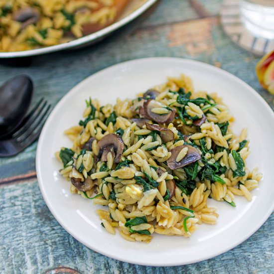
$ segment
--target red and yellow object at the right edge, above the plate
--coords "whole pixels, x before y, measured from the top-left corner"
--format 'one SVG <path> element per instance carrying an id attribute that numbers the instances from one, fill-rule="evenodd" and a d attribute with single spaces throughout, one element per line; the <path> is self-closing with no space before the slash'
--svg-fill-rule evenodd
<path id="1" fill-rule="evenodd" d="M 258 62 L 256 73 L 261 85 L 274 94 L 274 50 Z"/>

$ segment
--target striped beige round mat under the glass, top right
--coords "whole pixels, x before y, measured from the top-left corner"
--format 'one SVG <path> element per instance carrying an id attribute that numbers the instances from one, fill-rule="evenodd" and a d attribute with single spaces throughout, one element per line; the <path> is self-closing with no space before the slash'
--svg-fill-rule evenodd
<path id="1" fill-rule="evenodd" d="M 239 0 L 224 0 L 221 8 L 221 22 L 226 34 L 237 45 L 257 55 L 274 50 L 274 40 L 256 37 L 241 20 Z"/>

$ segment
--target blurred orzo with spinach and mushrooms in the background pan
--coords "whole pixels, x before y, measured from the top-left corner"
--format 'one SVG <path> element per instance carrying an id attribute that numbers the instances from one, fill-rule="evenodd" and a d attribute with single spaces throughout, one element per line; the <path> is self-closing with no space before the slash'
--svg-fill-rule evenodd
<path id="1" fill-rule="evenodd" d="M 93 33 L 112 24 L 128 2 L 0 0 L 0 52 L 57 45 Z"/>

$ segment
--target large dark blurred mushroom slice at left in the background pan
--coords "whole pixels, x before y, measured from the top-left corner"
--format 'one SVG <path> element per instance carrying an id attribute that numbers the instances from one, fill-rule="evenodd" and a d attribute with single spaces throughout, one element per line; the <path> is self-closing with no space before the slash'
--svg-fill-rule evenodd
<path id="1" fill-rule="evenodd" d="M 21 8 L 14 12 L 12 19 L 21 22 L 21 29 L 23 29 L 27 25 L 37 23 L 40 20 L 40 13 L 32 7 Z"/>

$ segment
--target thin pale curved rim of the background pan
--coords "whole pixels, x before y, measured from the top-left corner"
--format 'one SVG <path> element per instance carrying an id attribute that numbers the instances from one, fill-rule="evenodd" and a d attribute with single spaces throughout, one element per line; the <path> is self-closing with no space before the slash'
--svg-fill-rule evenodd
<path id="1" fill-rule="evenodd" d="M 124 25 L 130 23 L 134 19 L 136 19 L 138 16 L 140 16 L 143 12 L 145 12 L 149 7 L 151 7 L 154 3 L 156 3 L 158 0 L 147 0 L 144 2 L 140 7 L 138 7 L 136 10 L 128 14 L 126 17 L 122 18 L 119 21 L 114 22 L 113 24 L 104 27 L 101 30 L 98 30 L 94 33 L 85 35 L 83 37 L 71 40 L 69 42 L 53 45 L 53 46 L 47 46 L 42 48 L 36 48 L 36 49 L 29 49 L 29 50 L 22 50 L 22 51 L 10 51 L 10 52 L 0 52 L 0 58 L 17 58 L 17 57 L 28 57 L 28 56 L 36 56 L 41 54 L 47 54 L 51 52 L 61 51 L 65 49 L 74 48 L 77 46 L 85 45 L 86 43 L 96 41 L 100 38 L 103 38 L 109 33 L 112 33 L 113 31 L 123 27 Z"/>

